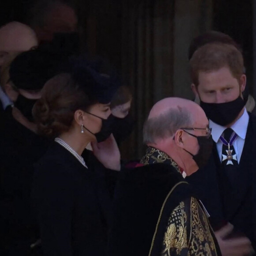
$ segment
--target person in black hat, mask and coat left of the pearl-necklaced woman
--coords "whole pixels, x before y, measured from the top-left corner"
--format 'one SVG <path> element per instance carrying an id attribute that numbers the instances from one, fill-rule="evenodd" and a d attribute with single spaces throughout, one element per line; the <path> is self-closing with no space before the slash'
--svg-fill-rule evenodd
<path id="1" fill-rule="evenodd" d="M 62 64 L 61 56 L 35 49 L 17 56 L 8 71 L 4 89 L 14 105 L 5 110 L 0 125 L 1 255 L 39 253 L 34 248 L 38 228 L 30 207 L 30 188 L 33 164 L 46 151 L 48 141 L 37 134 L 32 107 Z"/>

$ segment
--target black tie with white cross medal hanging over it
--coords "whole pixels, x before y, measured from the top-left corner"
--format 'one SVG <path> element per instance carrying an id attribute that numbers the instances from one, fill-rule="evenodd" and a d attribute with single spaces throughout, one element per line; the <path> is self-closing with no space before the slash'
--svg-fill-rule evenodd
<path id="1" fill-rule="evenodd" d="M 227 143 L 230 143 L 230 147 L 228 145 L 225 145 L 225 143 L 222 144 L 222 166 L 237 166 L 237 154 L 233 147 L 233 141 L 232 138 L 236 134 L 231 128 L 226 128 L 226 130 L 223 132 L 224 139 Z"/>

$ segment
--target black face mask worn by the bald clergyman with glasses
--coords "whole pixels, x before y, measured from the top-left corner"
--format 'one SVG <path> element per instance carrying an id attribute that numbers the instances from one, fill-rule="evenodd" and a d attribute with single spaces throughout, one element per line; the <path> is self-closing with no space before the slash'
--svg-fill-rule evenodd
<path id="1" fill-rule="evenodd" d="M 184 132 L 186 132 L 184 130 Z M 207 162 L 211 156 L 211 151 L 213 147 L 213 140 L 210 136 L 209 138 L 207 136 L 195 136 L 189 132 L 187 132 L 190 136 L 193 136 L 197 139 L 199 144 L 199 151 L 197 154 L 193 155 L 187 150 L 184 149 L 184 151 L 188 152 L 188 154 L 192 155 L 193 160 L 196 162 L 199 169 L 203 168 L 207 165 Z"/>

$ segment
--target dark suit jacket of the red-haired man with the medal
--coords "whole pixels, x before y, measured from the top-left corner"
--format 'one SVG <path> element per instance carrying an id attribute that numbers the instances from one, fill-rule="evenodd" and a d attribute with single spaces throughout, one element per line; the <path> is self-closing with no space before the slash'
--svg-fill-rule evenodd
<path id="1" fill-rule="evenodd" d="M 218 230 L 226 222 L 234 225 L 235 231 L 242 232 L 256 245 L 256 117 L 249 113 L 249 124 L 245 145 L 241 155 L 239 170 L 232 173 L 237 186 L 230 199 L 228 216 L 222 207 L 221 187 L 218 177 L 220 160 L 216 144 L 207 166 L 186 177 L 192 184 L 196 195 L 202 200 L 211 215 L 211 224 Z M 224 186 L 225 190 L 225 186 Z M 224 191 L 225 192 L 225 191 Z"/>

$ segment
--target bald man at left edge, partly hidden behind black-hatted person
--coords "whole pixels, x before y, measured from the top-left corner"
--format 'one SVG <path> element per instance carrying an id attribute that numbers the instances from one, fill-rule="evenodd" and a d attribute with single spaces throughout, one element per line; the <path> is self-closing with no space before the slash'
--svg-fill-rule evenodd
<path id="1" fill-rule="evenodd" d="M 23 23 L 11 22 L 0 27 L 0 81 L 3 83 L 4 72 L 8 64 L 19 53 L 28 51 L 38 45 L 34 30 Z M 1 84 L 0 84 L 1 85 Z M 12 102 L 0 87 L 0 101 L 2 108 L 6 109 Z"/>

